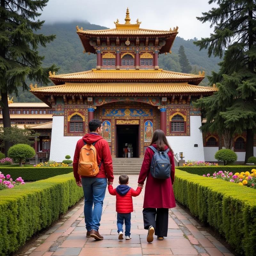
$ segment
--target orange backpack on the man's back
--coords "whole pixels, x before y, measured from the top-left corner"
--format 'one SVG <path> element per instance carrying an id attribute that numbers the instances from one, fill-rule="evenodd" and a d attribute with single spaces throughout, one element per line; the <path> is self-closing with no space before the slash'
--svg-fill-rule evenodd
<path id="1" fill-rule="evenodd" d="M 100 171 L 102 161 L 98 166 L 97 151 L 94 147 L 97 141 L 92 144 L 87 144 L 84 141 L 84 146 L 80 150 L 80 156 L 78 161 L 78 174 L 81 176 L 93 177 L 96 176 Z"/>

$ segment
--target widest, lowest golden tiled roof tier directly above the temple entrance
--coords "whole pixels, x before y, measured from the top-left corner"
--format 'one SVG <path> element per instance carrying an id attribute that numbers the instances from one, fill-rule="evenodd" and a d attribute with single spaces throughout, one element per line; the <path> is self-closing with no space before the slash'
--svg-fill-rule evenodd
<path id="1" fill-rule="evenodd" d="M 48 87 L 37 87 L 32 90 L 34 94 L 38 92 L 50 94 L 84 94 L 84 95 L 145 95 L 155 93 L 157 95 L 168 95 L 173 93 L 204 94 L 216 92 L 213 87 L 197 86 L 188 83 L 65 83 Z"/>

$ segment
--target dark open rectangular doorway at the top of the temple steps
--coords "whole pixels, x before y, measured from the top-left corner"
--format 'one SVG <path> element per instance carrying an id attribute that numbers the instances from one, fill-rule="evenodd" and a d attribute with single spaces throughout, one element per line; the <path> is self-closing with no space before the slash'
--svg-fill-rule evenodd
<path id="1" fill-rule="evenodd" d="M 116 125 L 116 157 L 139 157 L 139 125 Z"/>

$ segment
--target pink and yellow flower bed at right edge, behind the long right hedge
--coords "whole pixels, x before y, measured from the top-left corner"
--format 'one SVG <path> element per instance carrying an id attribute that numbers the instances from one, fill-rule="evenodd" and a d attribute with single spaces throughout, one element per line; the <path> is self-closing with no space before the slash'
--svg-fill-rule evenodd
<path id="1" fill-rule="evenodd" d="M 236 172 L 234 175 L 232 172 L 214 172 L 212 176 L 210 176 L 210 173 L 207 175 L 203 175 L 203 177 L 211 177 L 213 179 L 222 179 L 229 182 L 237 183 L 241 186 L 246 186 L 250 188 L 256 188 L 256 169 L 252 169 L 250 172 Z"/>

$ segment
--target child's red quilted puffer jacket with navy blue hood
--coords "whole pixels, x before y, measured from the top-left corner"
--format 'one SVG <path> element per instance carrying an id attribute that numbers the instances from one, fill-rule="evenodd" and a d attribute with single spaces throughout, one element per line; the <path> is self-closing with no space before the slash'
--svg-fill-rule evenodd
<path id="1" fill-rule="evenodd" d="M 113 186 L 109 185 L 108 192 L 110 195 L 116 196 L 116 212 L 130 213 L 133 212 L 132 196 L 139 196 L 141 187 L 133 190 L 127 185 L 119 185 L 113 189 Z"/>

